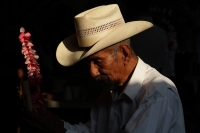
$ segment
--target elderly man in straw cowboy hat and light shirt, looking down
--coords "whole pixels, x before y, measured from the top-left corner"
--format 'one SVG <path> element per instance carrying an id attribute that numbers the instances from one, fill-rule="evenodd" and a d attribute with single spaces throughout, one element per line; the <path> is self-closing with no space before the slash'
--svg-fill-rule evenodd
<path id="1" fill-rule="evenodd" d="M 130 45 L 134 45 L 130 37 L 150 29 L 152 23 L 125 23 L 117 4 L 92 8 L 74 20 L 76 34 L 58 45 L 57 60 L 62 66 L 86 60 L 91 77 L 104 91 L 87 123 L 72 125 L 48 110 L 44 114 L 25 112 L 28 129 L 48 133 L 185 133 L 174 83 L 143 62 Z"/>

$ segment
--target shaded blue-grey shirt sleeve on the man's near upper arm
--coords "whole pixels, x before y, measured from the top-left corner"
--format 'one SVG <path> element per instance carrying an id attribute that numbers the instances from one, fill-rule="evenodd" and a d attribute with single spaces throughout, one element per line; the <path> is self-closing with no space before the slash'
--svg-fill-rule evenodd
<path id="1" fill-rule="evenodd" d="M 185 133 L 180 98 L 171 88 L 165 91 L 143 101 L 125 127 L 128 133 Z"/>

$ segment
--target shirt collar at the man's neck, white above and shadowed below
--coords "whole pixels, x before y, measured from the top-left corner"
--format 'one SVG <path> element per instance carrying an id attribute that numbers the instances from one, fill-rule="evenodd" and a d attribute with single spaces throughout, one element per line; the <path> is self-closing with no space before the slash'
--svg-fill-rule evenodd
<path id="1" fill-rule="evenodd" d="M 123 93 L 125 93 L 132 101 L 137 96 L 138 92 L 142 87 L 142 82 L 144 80 L 145 72 L 147 69 L 147 64 L 145 64 L 139 57 L 136 68 L 129 80 Z"/>

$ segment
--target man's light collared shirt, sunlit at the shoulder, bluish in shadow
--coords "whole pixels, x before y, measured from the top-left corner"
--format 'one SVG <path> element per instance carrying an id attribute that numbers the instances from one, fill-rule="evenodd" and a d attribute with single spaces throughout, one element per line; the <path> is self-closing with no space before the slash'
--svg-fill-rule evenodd
<path id="1" fill-rule="evenodd" d="M 64 122 L 64 127 L 66 133 L 185 133 L 176 86 L 140 58 L 120 95 L 105 90 L 87 123 Z"/>

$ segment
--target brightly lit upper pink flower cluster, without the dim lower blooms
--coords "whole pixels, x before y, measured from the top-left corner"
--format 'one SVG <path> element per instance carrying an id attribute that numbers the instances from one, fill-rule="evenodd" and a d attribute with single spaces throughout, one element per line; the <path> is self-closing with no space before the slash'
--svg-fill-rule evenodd
<path id="1" fill-rule="evenodd" d="M 36 51 L 32 49 L 34 46 L 30 40 L 31 34 L 29 32 L 25 33 L 23 27 L 20 28 L 19 41 L 22 43 L 22 54 L 26 59 L 25 64 L 27 64 L 28 69 L 28 80 L 33 86 L 39 85 L 42 82 L 42 75 L 40 73 L 39 63 L 37 59 L 39 56 Z"/>

